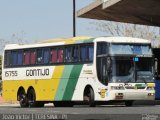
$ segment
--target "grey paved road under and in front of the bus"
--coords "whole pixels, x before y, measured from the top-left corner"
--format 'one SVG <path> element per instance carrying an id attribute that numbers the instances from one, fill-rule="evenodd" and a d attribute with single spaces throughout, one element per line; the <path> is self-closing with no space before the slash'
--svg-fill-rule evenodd
<path id="1" fill-rule="evenodd" d="M 126 107 L 124 105 L 108 105 L 90 108 L 88 106 L 53 107 L 52 104 L 44 108 L 20 108 L 19 105 L 1 105 L 0 119 L 6 120 L 8 115 L 30 115 L 28 119 L 87 119 L 87 120 L 160 120 L 160 105 L 145 104 Z M 16 118 L 15 116 L 14 119 Z M 146 119 L 143 119 L 146 118 Z M 149 119 L 148 119 L 149 118 Z M 16 118 L 17 119 L 17 118 Z M 19 118 L 22 119 L 22 118 Z M 27 119 L 27 118 L 26 118 Z"/>

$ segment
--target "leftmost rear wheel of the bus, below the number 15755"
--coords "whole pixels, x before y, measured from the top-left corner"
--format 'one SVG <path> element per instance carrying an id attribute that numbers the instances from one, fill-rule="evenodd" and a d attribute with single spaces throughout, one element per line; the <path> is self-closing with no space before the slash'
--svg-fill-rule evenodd
<path id="1" fill-rule="evenodd" d="M 18 99 L 19 99 L 19 104 L 21 106 L 21 108 L 24 108 L 24 107 L 28 107 L 29 104 L 28 104 L 28 99 L 27 99 L 27 96 L 25 94 L 25 91 L 24 89 L 23 90 L 20 90 L 18 92 Z"/>

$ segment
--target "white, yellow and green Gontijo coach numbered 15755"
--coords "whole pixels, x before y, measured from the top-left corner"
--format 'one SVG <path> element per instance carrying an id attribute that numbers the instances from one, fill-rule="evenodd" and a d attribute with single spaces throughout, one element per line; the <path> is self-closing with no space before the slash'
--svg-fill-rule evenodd
<path id="1" fill-rule="evenodd" d="M 51 40 L 52 41 L 52 40 Z M 151 43 L 131 37 L 76 37 L 6 45 L 3 97 L 21 107 L 154 100 Z"/>

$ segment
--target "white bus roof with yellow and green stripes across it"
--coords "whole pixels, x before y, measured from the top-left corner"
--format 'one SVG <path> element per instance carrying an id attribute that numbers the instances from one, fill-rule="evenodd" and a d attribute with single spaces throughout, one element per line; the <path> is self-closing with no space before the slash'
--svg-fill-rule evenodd
<path id="1" fill-rule="evenodd" d="M 58 45 L 78 44 L 78 43 L 91 43 L 94 41 L 96 42 L 104 41 L 109 43 L 144 43 L 144 44 L 151 43 L 151 41 L 149 40 L 132 38 L 132 37 L 97 37 L 97 38 L 73 37 L 67 39 L 49 39 L 35 44 L 8 44 L 5 46 L 5 50 L 58 46 Z"/>

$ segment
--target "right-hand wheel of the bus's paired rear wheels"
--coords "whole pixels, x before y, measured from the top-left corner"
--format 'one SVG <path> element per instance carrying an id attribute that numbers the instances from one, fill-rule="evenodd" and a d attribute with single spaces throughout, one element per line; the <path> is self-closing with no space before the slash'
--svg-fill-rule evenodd
<path id="1" fill-rule="evenodd" d="M 38 102 L 36 102 L 36 93 L 34 89 L 30 89 L 27 93 L 29 107 L 38 107 Z"/>

